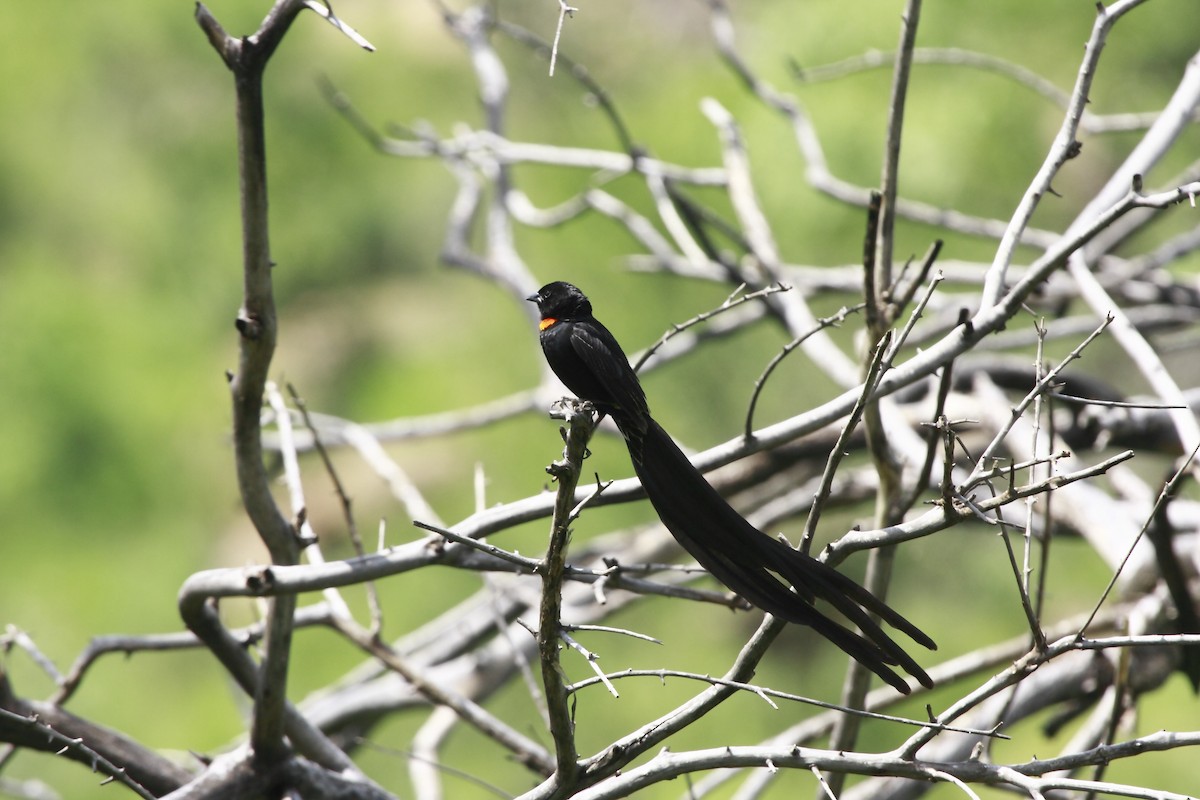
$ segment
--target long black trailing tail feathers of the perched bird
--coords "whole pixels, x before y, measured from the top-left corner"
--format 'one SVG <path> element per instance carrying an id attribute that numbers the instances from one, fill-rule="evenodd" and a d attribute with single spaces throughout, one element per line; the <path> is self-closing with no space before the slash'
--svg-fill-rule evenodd
<path id="1" fill-rule="evenodd" d="M 925 670 L 871 614 L 914 642 L 936 649 L 920 628 L 823 561 L 746 522 L 653 419 L 614 416 L 614 420 L 625 435 L 634 470 L 662 524 L 718 581 L 775 616 L 812 627 L 900 692 L 908 693 L 908 686 L 892 666 L 901 667 L 922 685 L 932 686 Z M 822 614 L 814 606 L 816 600 L 838 609 L 862 634 Z"/>

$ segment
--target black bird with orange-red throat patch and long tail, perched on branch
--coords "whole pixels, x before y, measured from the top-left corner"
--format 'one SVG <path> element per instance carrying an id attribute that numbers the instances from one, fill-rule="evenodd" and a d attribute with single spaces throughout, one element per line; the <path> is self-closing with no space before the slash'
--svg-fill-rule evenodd
<path id="1" fill-rule="evenodd" d="M 907 694 L 908 686 L 889 664 L 926 687 L 934 685 L 870 613 L 935 650 L 932 639 L 852 579 L 751 525 L 692 467 L 650 416 L 629 359 L 592 315 L 582 291 L 556 281 L 527 300 L 541 313 L 539 339 L 550 368 L 580 399 L 617 423 L 650 505 L 701 566 L 758 608 L 810 626 L 898 691 Z M 862 636 L 822 614 L 814 606 L 818 599 L 856 624 Z"/>

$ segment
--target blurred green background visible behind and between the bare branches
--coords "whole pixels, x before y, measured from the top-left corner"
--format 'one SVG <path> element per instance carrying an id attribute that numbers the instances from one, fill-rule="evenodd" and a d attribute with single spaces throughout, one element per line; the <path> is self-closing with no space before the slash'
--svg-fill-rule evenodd
<path id="1" fill-rule="evenodd" d="M 251 32 L 268 4 L 218 0 L 210 8 L 230 32 Z M 294 383 L 313 409 L 359 421 L 467 407 L 533 386 L 541 362 L 529 309 L 438 263 L 455 188 L 450 174 L 436 162 L 376 154 L 319 90 L 319 80 L 330 80 L 378 125 L 424 120 L 448 134 L 458 122 L 480 124 L 463 49 L 432 4 L 342 0 L 336 10 L 373 41 L 377 53 L 359 50 L 314 16 L 304 16 L 268 72 L 281 315 L 276 375 Z M 90 636 L 178 630 L 175 594 L 193 571 L 262 558 L 239 511 L 223 374 L 235 363 L 233 319 L 240 302 L 233 89 L 190 2 L 22 4 L 6 11 L 0 26 L 0 621 L 28 631 L 65 669 Z M 553 4 L 505 2 L 498 11 L 544 37 L 553 34 Z M 743 53 L 763 77 L 805 102 L 833 169 L 862 185 L 877 181 L 889 72 L 798 86 L 786 60 L 811 66 L 892 49 L 900 11 L 899 4 L 881 0 L 856 4 L 852 13 L 833 0 L 739 4 L 736 10 Z M 1067 90 L 1093 17 L 1088 2 L 926 4 L 918 42 L 1007 58 Z M 1109 42 L 1092 110 L 1160 108 L 1200 44 L 1194 23 L 1190 0 L 1156 0 L 1133 12 Z M 510 137 L 617 146 L 565 73 L 548 78 L 545 62 L 523 48 L 498 47 L 512 82 Z M 718 163 L 715 137 L 698 102 L 720 98 L 746 130 L 762 201 L 785 257 L 805 264 L 857 258 L 862 215 L 805 186 L 787 126 L 714 58 L 704 4 L 586 5 L 566 23 L 563 53 L 612 94 L 638 143 L 677 163 Z M 994 74 L 929 66 L 917 68 L 908 119 L 904 192 L 1007 218 L 1061 114 Z M 1177 149 L 1181 155 L 1150 176 L 1151 185 L 1200 151 L 1195 133 L 1189 137 L 1190 144 Z M 1130 134 L 1085 139 L 1084 155 L 1055 182 L 1063 198 L 1044 203 L 1036 224 L 1069 221 L 1134 140 Z M 583 172 L 532 167 L 516 175 L 542 206 L 590 180 Z M 647 206 L 636 182 L 618 182 L 613 191 Z M 1172 224 L 1194 224 L 1194 216 L 1175 219 L 1162 235 Z M 934 235 L 940 234 L 902 227 L 898 255 L 923 252 Z M 622 257 L 636 245 L 602 219 L 522 230 L 517 245 L 539 278 L 583 285 L 629 349 L 648 344 L 671 321 L 719 303 L 728 291 L 626 272 Z M 950 237 L 946 252 L 988 259 L 990 251 L 989 242 Z M 1182 269 L 1195 265 L 1192 259 Z M 758 327 L 703 360 L 653 374 L 648 390 L 655 408 L 670 409 L 667 427 L 697 446 L 734 435 L 750 383 L 784 341 L 781 332 Z M 828 396 L 828 386 L 804 378 L 802 359 L 776 380 L 760 420 Z M 556 440 L 552 426 L 532 415 L 391 451 L 440 515 L 455 521 L 473 509 L 476 463 L 487 470 L 490 501 L 524 497 L 542 485 L 541 467 L 553 457 Z M 598 463 L 625 475 L 622 449 L 606 449 Z M 344 455 L 340 465 L 359 503 L 360 525 L 373 530 L 386 517 L 392 541 L 407 539 L 407 519 L 379 482 Z M 329 536 L 330 553 L 347 554 L 328 482 L 314 464 L 308 468 L 314 524 Z M 644 518 L 641 509 L 605 513 L 598 515 L 598 528 Z M 539 528 L 523 549 L 535 549 L 540 536 Z M 912 609 L 914 619 L 940 620 L 926 627 L 947 655 L 1020 632 L 995 540 L 941 537 L 936 552 L 932 547 L 918 543 L 904 559 L 898 604 Z M 936 558 L 923 565 L 923 552 Z M 1058 553 L 1082 589 L 1080 597 L 1055 602 L 1063 610 L 1086 607 L 1106 575 L 1082 546 L 1066 545 Z M 949 558 L 960 563 L 948 577 Z M 442 608 L 478 585 L 470 576 L 445 572 L 406 581 L 412 582 L 385 589 L 396 600 L 390 632 L 432 614 L 432 607 L 413 608 L 404 597 L 438 597 Z M 970 604 L 946 616 L 952 606 L 920 591 L 931 582 L 970 591 Z M 680 616 L 686 609 L 652 608 L 652 634 L 667 636 L 673 624 L 686 622 Z M 686 642 L 668 640 L 676 650 L 670 661 L 724 670 L 751 624 L 730 624 L 727 638 L 714 634 L 702 655 L 686 650 Z M 806 640 L 790 636 L 793 651 L 802 649 Z M 606 649 L 606 666 L 660 666 L 661 652 Z M 325 633 L 299 636 L 298 656 L 292 686 L 298 698 L 358 661 Z M 52 692 L 23 655 L 6 658 L 19 693 Z M 829 657 L 829 670 L 839 664 Z M 776 658 L 762 679 L 817 693 L 792 672 Z M 832 699 L 836 682 L 823 686 Z M 691 690 L 630 685 L 616 706 L 599 694 L 586 698 L 581 718 L 584 711 L 604 717 L 590 746 L 644 718 L 637 699 L 643 692 L 647 703 L 666 708 L 684 696 L 678 692 Z M 744 726 L 739 741 L 755 741 L 779 724 L 769 715 L 756 718 L 756 703 L 738 700 L 722 711 L 726 724 Z M 1156 703 L 1153 715 L 1145 715 L 1146 730 L 1195 727 L 1198 705 L 1182 681 Z M 498 698 L 496 708 L 524 705 L 528 700 L 516 692 Z M 151 746 L 180 751 L 226 745 L 242 729 L 245 712 L 242 698 L 204 654 L 109 658 L 70 708 Z M 793 711 L 785 706 L 784 712 Z M 412 724 L 397 722 L 376 740 L 402 748 Z M 458 736 L 451 752 L 470 752 L 473 736 Z M 706 742 L 713 744 L 684 738 L 674 746 Z M 1038 753 L 1052 752 L 1056 744 Z M 1139 760 L 1141 770 L 1153 770 L 1156 787 L 1187 790 L 1194 776 L 1178 753 Z M 380 752 L 365 763 L 391 788 L 407 792 L 396 771 L 402 757 Z M 479 771 L 514 792 L 528 782 L 499 760 Z M 1109 776 L 1136 781 L 1148 780 L 1146 774 L 1114 768 Z M 6 776 L 42 776 L 68 798 L 120 793 L 100 789 L 84 770 L 47 757 L 18 757 Z M 811 790 L 811 778 L 790 776 L 781 793 L 785 787 Z M 668 784 L 653 796 L 680 790 Z M 455 784 L 451 796 L 486 794 Z"/>

